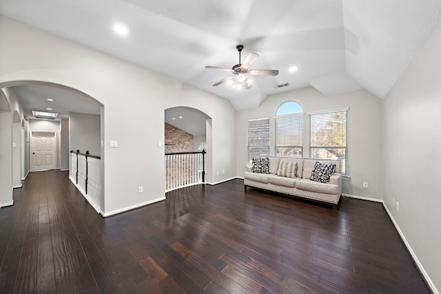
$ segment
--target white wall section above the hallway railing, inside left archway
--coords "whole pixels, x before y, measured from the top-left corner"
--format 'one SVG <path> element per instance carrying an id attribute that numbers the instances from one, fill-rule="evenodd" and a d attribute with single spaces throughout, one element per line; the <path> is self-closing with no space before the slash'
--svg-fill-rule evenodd
<path id="1" fill-rule="evenodd" d="M 101 117 L 94 114 L 69 114 L 70 149 L 101 156 Z"/>

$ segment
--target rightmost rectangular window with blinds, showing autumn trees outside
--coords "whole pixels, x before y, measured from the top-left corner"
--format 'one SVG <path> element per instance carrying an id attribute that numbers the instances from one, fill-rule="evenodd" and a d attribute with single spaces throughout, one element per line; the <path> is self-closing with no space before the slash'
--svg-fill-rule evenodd
<path id="1" fill-rule="evenodd" d="M 311 158 L 342 160 L 347 174 L 347 110 L 310 114 Z"/>

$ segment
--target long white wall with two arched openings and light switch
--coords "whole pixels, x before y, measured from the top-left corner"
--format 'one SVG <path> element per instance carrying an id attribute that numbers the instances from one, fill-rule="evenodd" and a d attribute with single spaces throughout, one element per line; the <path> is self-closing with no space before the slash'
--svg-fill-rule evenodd
<path id="1" fill-rule="evenodd" d="M 3 28 L 7 28 L 3 29 Z M 209 182 L 236 176 L 236 115 L 225 98 L 197 90 L 0 16 L 0 87 L 43 81 L 72 87 L 104 105 L 103 156 L 108 215 L 165 196 L 164 111 L 192 107 L 212 118 Z M 118 140 L 118 148 L 109 148 Z M 207 154 L 208 156 L 208 154 Z M 216 171 L 225 169 L 225 174 Z M 144 193 L 138 193 L 138 187 Z"/>

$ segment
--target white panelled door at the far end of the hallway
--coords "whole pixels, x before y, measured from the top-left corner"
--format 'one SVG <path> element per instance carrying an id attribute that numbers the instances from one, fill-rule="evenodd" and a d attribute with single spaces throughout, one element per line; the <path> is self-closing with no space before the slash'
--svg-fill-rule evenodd
<path id="1" fill-rule="evenodd" d="M 57 169 L 57 133 L 32 132 L 30 138 L 30 170 Z"/>

